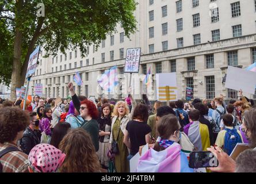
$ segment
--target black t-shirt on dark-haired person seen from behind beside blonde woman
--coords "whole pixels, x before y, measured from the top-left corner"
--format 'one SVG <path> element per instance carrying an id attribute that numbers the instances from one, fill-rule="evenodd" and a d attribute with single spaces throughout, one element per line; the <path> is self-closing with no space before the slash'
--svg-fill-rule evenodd
<path id="1" fill-rule="evenodd" d="M 129 121 L 126 125 L 131 141 L 131 155 L 139 152 L 140 145 L 146 144 L 145 136 L 151 132 L 151 128 L 146 122 Z"/>

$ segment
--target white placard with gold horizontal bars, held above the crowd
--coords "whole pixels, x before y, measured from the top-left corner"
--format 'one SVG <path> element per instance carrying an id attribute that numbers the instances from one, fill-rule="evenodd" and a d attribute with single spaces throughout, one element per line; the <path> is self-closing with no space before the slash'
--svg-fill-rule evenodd
<path id="1" fill-rule="evenodd" d="M 177 101 L 176 73 L 156 74 L 156 93 L 159 101 Z"/>

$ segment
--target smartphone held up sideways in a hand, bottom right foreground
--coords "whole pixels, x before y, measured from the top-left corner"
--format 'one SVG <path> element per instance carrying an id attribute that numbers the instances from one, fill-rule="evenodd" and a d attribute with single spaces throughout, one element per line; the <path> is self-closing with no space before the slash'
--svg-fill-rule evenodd
<path id="1" fill-rule="evenodd" d="M 219 162 L 211 151 L 192 151 L 189 155 L 189 167 L 217 167 Z"/>

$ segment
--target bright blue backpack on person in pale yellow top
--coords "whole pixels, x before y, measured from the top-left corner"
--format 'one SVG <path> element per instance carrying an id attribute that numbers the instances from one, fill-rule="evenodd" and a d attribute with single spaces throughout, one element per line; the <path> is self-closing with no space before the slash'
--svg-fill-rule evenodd
<path id="1" fill-rule="evenodd" d="M 233 129 L 228 129 L 225 128 L 225 137 L 224 137 L 224 146 L 223 150 L 226 152 L 228 155 L 231 154 L 231 152 L 234 150 L 235 146 L 237 143 L 242 143 L 242 139 L 238 133 L 238 131 L 233 128 Z"/>

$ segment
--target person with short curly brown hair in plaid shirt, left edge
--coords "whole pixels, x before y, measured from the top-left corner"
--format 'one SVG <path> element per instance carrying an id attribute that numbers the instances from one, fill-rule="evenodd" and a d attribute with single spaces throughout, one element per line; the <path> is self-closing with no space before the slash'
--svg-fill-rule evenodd
<path id="1" fill-rule="evenodd" d="M 16 107 L 0 109 L 0 152 L 9 150 L 1 157 L 3 173 L 28 173 L 28 155 L 21 151 L 17 141 L 29 125 L 27 112 Z"/>

